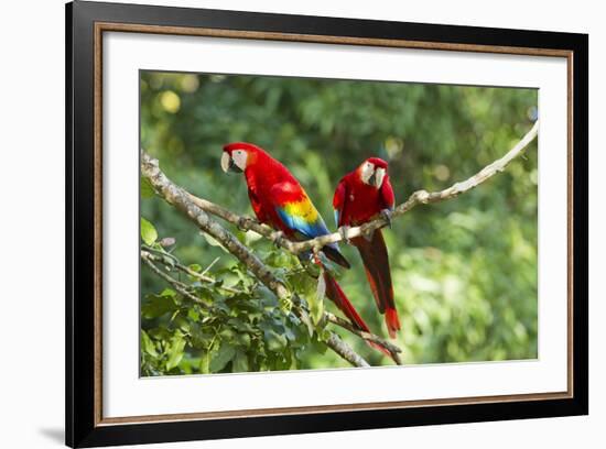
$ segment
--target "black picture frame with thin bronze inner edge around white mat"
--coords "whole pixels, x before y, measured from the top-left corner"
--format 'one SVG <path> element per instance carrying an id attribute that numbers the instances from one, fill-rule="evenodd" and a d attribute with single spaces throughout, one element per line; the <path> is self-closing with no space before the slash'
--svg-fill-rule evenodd
<path id="1" fill-rule="evenodd" d="M 104 413 L 104 35 L 246 40 L 566 62 L 566 388 L 555 392 L 216 410 Z M 170 69 L 171 67 L 169 67 Z M 355 74 L 353 74 L 355 77 Z M 127 150 L 125 150 L 127 151 Z M 130 150 L 129 150 L 130 151 Z M 139 149 L 132 149 L 137 152 Z M 66 443 L 132 445 L 588 413 L 588 36 L 75 1 L 66 6 Z M 564 293 L 563 293 L 564 294 Z M 133 324 L 137 326 L 137 324 Z M 107 368 L 107 366 L 106 366 Z"/>

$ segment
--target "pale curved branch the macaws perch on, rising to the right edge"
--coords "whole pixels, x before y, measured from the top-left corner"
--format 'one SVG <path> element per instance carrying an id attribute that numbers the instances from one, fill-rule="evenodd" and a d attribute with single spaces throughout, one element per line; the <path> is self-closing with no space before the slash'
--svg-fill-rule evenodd
<path id="1" fill-rule="evenodd" d="M 440 191 L 429 193 L 426 190 L 416 190 L 404 202 L 399 205 L 392 212 L 391 219 L 403 216 L 405 212 L 411 210 L 418 205 L 426 205 L 430 202 L 444 201 L 446 199 L 455 198 L 461 194 L 464 194 L 474 187 L 480 185 L 487 179 L 491 178 L 497 173 L 502 172 L 511 161 L 513 161 L 519 155 L 523 154 L 527 146 L 537 138 L 539 133 L 539 121 L 534 122 L 532 129 L 502 157 L 493 162 L 491 164 L 485 166 L 478 173 L 467 178 L 464 182 L 455 183 L 451 187 L 445 188 Z M 259 223 L 257 220 L 250 217 L 238 216 L 207 199 L 198 198 L 192 194 L 187 194 L 190 199 L 197 205 L 201 209 L 213 213 L 217 217 L 223 218 L 226 221 L 229 221 L 232 225 L 236 225 L 241 230 L 248 231 L 252 230 L 262 237 L 272 240 L 279 247 L 290 251 L 293 254 L 299 254 L 304 251 L 312 249 L 320 249 L 328 243 L 337 243 L 343 240 L 354 239 L 359 236 L 369 234 L 372 231 L 385 228 L 389 223 L 383 218 L 377 218 L 372 221 L 364 223 L 359 227 L 339 228 L 337 232 L 316 237 L 315 239 L 305 240 L 302 242 L 293 242 L 288 239 L 284 239 L 278 232 L 273 231 L 270 227 Z"/>

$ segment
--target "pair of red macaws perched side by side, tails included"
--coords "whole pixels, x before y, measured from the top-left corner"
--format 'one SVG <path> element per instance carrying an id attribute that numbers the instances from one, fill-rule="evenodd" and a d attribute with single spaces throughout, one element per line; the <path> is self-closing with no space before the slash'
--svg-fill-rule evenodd
<path id="1" fill-rule="evenodd" d="M 224 146 L 221 168 L 244 173 L 248 196 L 259 221 L 283 232 L 292 240 L 309 240 L 329 233 L 322 216 L 296 178 L 264 150 L 246 142 Z M 382 215 L 390 217 L 393 209 L 393 189 L 387 174 L 387 162 L 370 157 L 345 175 L 335 191 L 333 207 L 337 227 L 359 226 Z M 391 338 L 400 329 L 393 302 L 393 287 L 387 248 L 378 229 L 370 237 L 356 237 L 351 243 L 364 262 L 368 283 L 381 314 L 385 314 Z M 326 258 L 349 269 L 350 265 L 336 243 L 322 249 Z M 326 296 L 358 329 L 369 332 L 368 326 L 354 308 L 340 286 L 323 270 Z"/>

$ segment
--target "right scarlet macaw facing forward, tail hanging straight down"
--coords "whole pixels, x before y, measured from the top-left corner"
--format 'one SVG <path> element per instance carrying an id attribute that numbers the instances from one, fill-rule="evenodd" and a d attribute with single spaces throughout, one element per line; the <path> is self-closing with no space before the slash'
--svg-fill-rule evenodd
<path id="1" fill-rule="evenodd" d="M 335 190 L 333 207 L 337 227 L 359 226 L 378 216 L 388 220 L 393 210 L 393 188 L 387 174 L 387 162 L 370 157 L 345 175 Z M 385 314 L 391 338 L 400 330 L 400 320 L 393 303 L 393 286 L 389 258 L 380 229 L 371 236 L 356 237 L 351 243 L 358 249 L 366 276 L 377 307 Z"/>

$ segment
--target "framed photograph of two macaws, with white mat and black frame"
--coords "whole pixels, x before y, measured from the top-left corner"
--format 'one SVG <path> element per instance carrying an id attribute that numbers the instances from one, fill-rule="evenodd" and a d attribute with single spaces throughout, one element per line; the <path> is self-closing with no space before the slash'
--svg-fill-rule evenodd
<path id="1" fill-rule="evenodd" d="M 587 414 L 587 35 L 66 23 L 67 445 Z"/>

